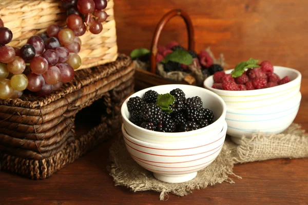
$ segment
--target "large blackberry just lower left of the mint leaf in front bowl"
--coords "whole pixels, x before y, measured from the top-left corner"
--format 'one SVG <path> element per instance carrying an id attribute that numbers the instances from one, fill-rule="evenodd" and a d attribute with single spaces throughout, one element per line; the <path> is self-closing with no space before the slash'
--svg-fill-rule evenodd
<path id="1" fill-rule="evenodd" d="M 140 110 L 140 118 L 143 121 L 153 122 L 157 126 L 162 122 L 163 111 L 155 103 L 145 104 Z"/>

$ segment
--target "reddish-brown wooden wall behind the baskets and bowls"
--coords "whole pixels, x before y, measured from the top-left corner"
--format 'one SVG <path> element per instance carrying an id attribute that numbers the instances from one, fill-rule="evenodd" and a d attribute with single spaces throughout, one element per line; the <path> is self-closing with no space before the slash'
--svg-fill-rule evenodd
<path id="1" fill-rule="evenodd" d="M 194 23 L 196 50 L 210 47 L 225 55 L 228 68 L 250 57 L 300 70 L 308 77 L 308 1 L 306 0 L 116 0 L 119 51 L 150 48 L 155 27 L 169 10 L 185 10 Z M 180 17 L 170 20 L 161 45 L 187 46 Z M 303 94 L 308 89 L 302 86 Z"/>

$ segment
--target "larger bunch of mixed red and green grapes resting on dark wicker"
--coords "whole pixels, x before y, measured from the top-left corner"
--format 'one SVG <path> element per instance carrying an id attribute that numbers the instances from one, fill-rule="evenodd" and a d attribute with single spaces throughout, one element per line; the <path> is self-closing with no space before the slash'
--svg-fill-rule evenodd
<path id="1" fill-rule="evenodd" d="M 81 66 L 76 54 L 81 40 L 71 29 L 51 25 L 47 35 L 30 37 L 21 49 L 6 46 L 12 37 L 0 19 L 0 99 L 19 98 L 25 89 L 49 95 L 71 81 Z"/>

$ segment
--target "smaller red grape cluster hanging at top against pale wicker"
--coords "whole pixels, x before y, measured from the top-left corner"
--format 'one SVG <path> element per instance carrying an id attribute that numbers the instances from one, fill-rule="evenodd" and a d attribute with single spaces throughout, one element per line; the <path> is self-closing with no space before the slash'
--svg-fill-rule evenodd
<path id="1" fill-rule="evenodd" d="M 99 34 L 103 30 L 102 22 L 108 15 L 102 9 L 107 7 L 107 0 L 62 0 L 66 9 L 67 27 L 76 36 L 83 35 L 86 30 Z"/>

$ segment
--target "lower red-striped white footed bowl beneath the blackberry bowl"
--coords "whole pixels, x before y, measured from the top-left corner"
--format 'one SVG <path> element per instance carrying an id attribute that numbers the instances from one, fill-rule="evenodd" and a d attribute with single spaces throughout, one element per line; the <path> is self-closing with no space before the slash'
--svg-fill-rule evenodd
<path id="1" fill-rule="evenodd" d="M 182 145 L 160 145 L 131 137 L 122 126 L 125 146 L 133 160 L 153 172 L 158 180 L 168 183 L 189 181 L 213 162 L 222 149 L 226 131 L 224 122 L 222 132 L 212 138 L 205 137 L 202 143 L 190 140 Z"/>

